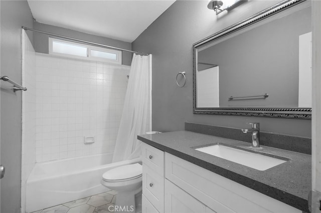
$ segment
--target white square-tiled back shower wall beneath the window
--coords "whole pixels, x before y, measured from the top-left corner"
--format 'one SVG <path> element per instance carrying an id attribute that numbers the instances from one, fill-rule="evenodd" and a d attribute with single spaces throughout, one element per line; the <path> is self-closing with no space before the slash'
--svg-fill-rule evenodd
<path id="1" fill-rule="evenodd" d="M 112 152 L 130 66 L 37 53 L 36 67 L 36 161 Z"/>

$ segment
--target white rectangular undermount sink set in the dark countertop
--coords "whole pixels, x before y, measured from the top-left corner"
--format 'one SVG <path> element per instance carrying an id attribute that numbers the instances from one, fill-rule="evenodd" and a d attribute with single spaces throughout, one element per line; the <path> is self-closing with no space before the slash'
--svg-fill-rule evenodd
<path id="1" fill-rule="evenodd" d="M 238 146 L 230 146 L 223 143 L 210 144 L 194 149 L 217 157 L 221 157 L 242 165 L 264 171 L 289 160 L 273 154 L 246 150 Z"/>

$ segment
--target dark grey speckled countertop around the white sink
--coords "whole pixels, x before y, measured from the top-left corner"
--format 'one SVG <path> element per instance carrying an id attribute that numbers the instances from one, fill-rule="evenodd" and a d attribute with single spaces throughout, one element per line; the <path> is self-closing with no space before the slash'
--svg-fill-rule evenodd
<path id="1" fill-rule="evenodd" d="M 211 143 L 248 147 L 249 143 L 192 131 L 172 131 L 138 135 L 138 139 L 242 185 L 309 212 L 307 197 L 311 190 L 311 155 L 262 146 L 259 151 L 290 160 L 260 171 L 191 147 Z"/>

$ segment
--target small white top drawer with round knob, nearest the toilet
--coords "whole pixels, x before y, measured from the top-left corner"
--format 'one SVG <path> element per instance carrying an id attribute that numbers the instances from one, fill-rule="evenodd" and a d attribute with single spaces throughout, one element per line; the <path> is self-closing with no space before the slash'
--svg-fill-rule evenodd
<path id="1" fill-rule="evenodd" d="M 165 152 L 142 143 L 142 162 L 164 177 Z"/>

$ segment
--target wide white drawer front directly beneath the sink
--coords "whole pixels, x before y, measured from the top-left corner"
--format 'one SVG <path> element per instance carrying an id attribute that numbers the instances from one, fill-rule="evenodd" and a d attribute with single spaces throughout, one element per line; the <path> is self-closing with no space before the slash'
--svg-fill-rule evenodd
<path id="1" fill-rule="evenodd" d="M 301 212 L 172 154 L 165 161 L 167 179 L 217 212 Z"/>

